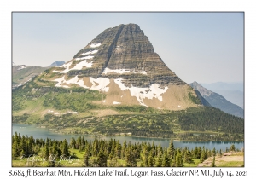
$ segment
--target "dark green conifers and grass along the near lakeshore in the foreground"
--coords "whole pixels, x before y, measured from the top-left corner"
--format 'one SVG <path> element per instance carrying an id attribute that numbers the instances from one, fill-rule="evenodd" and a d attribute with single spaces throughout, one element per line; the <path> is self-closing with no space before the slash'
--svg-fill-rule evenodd
<path id="1" fill-rule="evenodd" d="M 238 150 L 232 145 L 225 152 L 228 151 Z M 86 141 L 78 137 L 67 142 L 66 139 L 34 139 L 17 133 L 12 137 L 13 166 L 191 167 L 223 153 L 215 148 L 175 148 L 172 141 L 169 147 L 162 147 L 154 142 L 121 144 L 115 139 Z"/>

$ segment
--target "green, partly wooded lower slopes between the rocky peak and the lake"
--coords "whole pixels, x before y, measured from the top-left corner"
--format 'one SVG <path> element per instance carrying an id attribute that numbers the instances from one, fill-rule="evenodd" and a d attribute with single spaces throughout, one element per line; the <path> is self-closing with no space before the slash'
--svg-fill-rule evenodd
<path id="1" fill-rule="evenodd" d="M 106 97 L 97 90 L 38 88 L 33 81 L 13 90 L 15 124 L 40 124 L 59 133 L 243 141 L 243 119 L 212 107 L 172 111 L 144 106 L 107 106 L 96 102 Z"/>

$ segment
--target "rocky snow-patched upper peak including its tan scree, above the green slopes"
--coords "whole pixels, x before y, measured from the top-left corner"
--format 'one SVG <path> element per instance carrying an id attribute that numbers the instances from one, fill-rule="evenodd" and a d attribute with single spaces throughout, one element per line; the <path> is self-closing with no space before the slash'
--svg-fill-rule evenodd
<path id="1" fill-rule="evenodd" d="M 62 66 L 40 77 L 56 87 L 99 90 L 102 105 L 142 105 L 180 110 L 201 106 L 194 89 L 154 52 L 136 24 L 108 28 Z"/>

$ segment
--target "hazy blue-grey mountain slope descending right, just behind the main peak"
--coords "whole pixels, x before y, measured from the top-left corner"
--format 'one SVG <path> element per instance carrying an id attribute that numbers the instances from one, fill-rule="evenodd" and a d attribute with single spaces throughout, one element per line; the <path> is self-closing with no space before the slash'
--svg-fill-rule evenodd
<path id="1" fill-rule="evenodd" d="M 211 90 L 207 90 L 197 82 L 193 82 L 189 84 L 195 90 L 198 90 L 201 95 L 211 104 L 212 107 L 216 107 L 225 113 L 230 113 L 232 115 L 238 116 L 240 118 L 244 118 L 244 111 L 241 107 L 227 101 L 222 95 L 218 95 L 217 93 L 212 92 Z"/>

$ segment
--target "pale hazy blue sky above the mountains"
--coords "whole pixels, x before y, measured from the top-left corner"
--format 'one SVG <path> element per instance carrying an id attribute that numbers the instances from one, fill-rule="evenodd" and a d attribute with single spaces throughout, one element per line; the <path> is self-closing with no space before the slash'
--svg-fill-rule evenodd
<path id="1" fill-rule="evenodd" d="M 69 61 L 108 27 L 135 23 L 187 83 L 243 81 L 243 13 L 13 13 L 13 61 Z"/>

